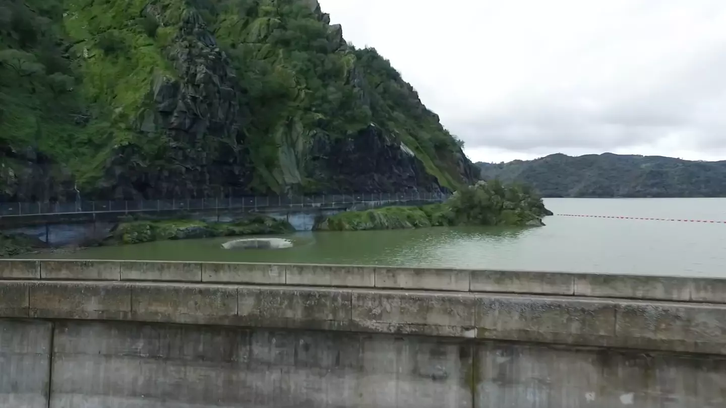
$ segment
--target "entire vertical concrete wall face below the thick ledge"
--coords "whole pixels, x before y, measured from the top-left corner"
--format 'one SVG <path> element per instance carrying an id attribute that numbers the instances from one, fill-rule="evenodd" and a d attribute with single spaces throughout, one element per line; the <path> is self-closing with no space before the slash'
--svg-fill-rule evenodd
<path id="1" fill-rule="evenodd" d="M 465 338 L 0 319 L 13 408 L 717 408 L 726 359 Z"/>

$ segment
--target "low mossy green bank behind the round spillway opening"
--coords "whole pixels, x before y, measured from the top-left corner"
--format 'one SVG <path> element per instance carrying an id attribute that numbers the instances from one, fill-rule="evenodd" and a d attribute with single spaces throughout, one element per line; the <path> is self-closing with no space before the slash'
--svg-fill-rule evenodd
<path id="1" fill-rule="evenodd" d="M 229 223 L 206 223 L 190 219 L 128 221 L 118 224 L 105 243 L 107 245 L 137 244 L 158 240 L 285 234 L 293 231 L 293 227 L 287 221 L 258 215 Z"/>

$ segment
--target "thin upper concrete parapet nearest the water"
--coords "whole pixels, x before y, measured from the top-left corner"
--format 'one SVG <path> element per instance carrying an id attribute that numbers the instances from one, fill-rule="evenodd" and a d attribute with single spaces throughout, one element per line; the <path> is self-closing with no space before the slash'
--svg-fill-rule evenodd
<path id="1" fill-rule="evenodd" d="M 359 287 L 726 303 L 726 279 L 315 264 L 0 260 L 0 280 Z"/>

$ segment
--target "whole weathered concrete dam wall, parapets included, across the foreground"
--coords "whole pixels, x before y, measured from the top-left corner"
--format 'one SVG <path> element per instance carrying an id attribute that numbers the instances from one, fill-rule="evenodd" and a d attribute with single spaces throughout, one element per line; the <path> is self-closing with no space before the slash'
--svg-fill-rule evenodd
<path id="1" fill-rule="evenodd" d="M 0 407 L 726 406 L 724 282 L 619 278 L 0 261 Z"/>

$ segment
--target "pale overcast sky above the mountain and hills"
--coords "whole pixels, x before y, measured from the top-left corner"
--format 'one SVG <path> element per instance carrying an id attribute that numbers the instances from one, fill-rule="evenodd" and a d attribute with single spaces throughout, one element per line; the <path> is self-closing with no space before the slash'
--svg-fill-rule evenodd
<path id="1" fill-rule="evenodd" d="M 725 0 L 319 0 L 475 161 L 726 159 Z"/>

